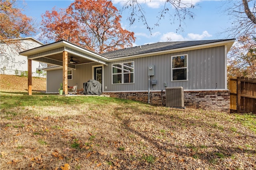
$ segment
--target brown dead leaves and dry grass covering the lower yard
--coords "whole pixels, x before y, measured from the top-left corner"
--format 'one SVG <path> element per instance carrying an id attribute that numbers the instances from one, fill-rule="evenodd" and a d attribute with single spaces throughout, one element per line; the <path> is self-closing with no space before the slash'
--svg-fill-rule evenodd
<path id="1" fill-rule="evenodd" d="M 255 134 L 246 130 L 230 133 L 226 129 L 231 127 L 232 121 L 210 119 L 200 115 L 203 113 L 194 116 L 183 110 L 180 114 L 161 115 L 136 114 L 132 109 L 126 113 L 125 109 L 120 109 L 126 114 L 117 118 L 103 112 L 104 108 L 89 121 L 87 112 L 67 120 L 66 117 L 26 115 L 20 122 L 15 120 L 15 126 L 2 127 L 1 135 L 5 135 L 0 146 L 0 159 L 5 162 L 3 169 L 20 165 L 29 170 L 69 170 L 76 166 L 100 170 L 246 169 L 247 163 L 250 168 L 256 166 L 252 144 Z M 201 117 L 204 119 L 199 119 Z M 211 126 L 215 121 L 218 126 Z M 6 119 L 6 122 L 10 121 Z M 77 145 L 72 146 L 75 142 Z"/>

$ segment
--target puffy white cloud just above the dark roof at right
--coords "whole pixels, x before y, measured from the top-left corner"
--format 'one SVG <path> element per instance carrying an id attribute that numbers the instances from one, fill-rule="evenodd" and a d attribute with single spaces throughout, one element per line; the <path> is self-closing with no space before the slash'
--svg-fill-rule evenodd
<path id="1" fill-rule="evenodd" d="M 202 40 L 204 38 L 209 38 L 209 37 L 212 37 L 212 35 L 209 34 L 207 31 L 202 32 L 202 34 L 189 33 L 186 37 L 183 37 L 182 35 L 174 32 L 168 32 L 160 38 L 160 42 Z"/>

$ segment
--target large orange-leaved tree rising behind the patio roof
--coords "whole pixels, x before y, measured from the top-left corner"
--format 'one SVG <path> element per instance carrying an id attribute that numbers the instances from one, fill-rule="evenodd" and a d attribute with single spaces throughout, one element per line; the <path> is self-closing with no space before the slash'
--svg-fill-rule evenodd
<path id="1" fill-rule="evenodd" d="M 108 0 L 75 0 L 67 9 L 46 11 L 42 18 L 40 38 L 67 40 L 98 53 L 131 47 L 135 41 Z"/>

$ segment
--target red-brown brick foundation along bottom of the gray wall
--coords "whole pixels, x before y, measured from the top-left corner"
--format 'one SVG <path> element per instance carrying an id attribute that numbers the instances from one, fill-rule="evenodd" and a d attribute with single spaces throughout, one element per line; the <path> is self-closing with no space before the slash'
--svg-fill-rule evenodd
<path id="1" fill-rule="evenodd" d="M 121 99 L 129 99 L 148 103 L 148 92 L 104 92 L 105 95 Z M 165 91 L 150 92 L 150 103 L 153 105 L 164 105 L 166 103 Z M 214 110 L 230 113 L 230 91 L 209 90 L 209 91 L 184 91 L 185 107 Z"/>

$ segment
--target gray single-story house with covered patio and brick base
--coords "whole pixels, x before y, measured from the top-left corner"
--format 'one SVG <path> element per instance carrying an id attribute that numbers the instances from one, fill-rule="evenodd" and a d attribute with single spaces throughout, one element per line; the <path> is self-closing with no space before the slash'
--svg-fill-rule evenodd
<path id="1" fill-rule="evenodd" d="M 166 87 L 183 87 L 186 107 L 229 112 L 227 53 L 234 41 L 158 42 L 98 54 L 61 40 L 20 55 L 56 65 L 45 69 L 47 93 L 63 83 L 67 94 L 68 86 L 82 89 L 96 79 L 104 94 L 148 102 L 150 91 L 150 103 L 162 104 Z M 31 85 L 28 78 L 29 94 Z"/>

